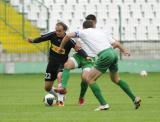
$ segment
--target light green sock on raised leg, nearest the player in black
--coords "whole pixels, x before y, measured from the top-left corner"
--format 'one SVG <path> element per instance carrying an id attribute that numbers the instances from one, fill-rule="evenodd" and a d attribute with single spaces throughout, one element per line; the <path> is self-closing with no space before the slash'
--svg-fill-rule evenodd
<path id="1" fill-rule="evenodd" d="M 69 75 L 70 75 L 69 72 L 70 72 L 69 69 L 64 69 L 63 70 L 63 73 L 62 73 L 62 87 L 63 88 L 67 87 L 67 82 L 68 82 Z"/>

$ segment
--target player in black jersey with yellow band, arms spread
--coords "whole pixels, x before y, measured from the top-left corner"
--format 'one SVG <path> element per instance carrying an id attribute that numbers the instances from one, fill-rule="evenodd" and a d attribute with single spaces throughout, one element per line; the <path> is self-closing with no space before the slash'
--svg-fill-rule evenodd
<path id="1" fill-rule="evenodd" d="M 63 37 L 66 35 L 67 25 L 63 22 L 58 22 L 55 27 L 54 32 L 47 33 L 42 35 L 41 37 L 35 39 L 28 39 L 30 43 L 40 43 L 44 41 L 50 40 L 51 46 L 49 50 L 49 61 L 46 69 L 45 74 L 45 90 L 51 94 L 55 95 L 53 87 L 53 82 L 57 79 L 58 80 L 58 87 L 61 87 L 61 74 L 63 71 L 64 63 L 68 59 L 68 54 L 71 48 L 74 48 L 80 55 L 83 57 L 87 57 L 87 54 L 83 49 L 79 46 L 76 46 L 74 40 L 70 39 L 69 42 L 64 47 L 65 51 L 63 54 L 58 52 L 59 46 Z M 63 95 L 58 95 L 59 105 L 64 105 Z"/>

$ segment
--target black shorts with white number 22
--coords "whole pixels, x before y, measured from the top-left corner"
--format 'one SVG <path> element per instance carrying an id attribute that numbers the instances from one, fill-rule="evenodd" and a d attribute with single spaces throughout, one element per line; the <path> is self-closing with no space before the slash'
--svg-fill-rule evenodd
<path id="1" fill-rule="evenodd" d="M 54 61 L 49 61 L 45 73 L 45 81 L 54 81 L 57 79 L 58 72 L 62 72 L 64 64 L 56 63 Z"/>

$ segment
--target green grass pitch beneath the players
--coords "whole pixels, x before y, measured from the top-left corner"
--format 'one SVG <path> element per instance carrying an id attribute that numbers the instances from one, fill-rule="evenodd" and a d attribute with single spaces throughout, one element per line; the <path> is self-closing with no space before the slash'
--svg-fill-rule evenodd
<path id="1" fill-rule="evenodd" d="M 43 74 L 0 75 L 0 122 L 160 122 L 160 73 L 147 77 L 122 73 L 121 78 L 141 96 L 140 109 L 134 110 L 128 96 L 105 75 L 98 84 L 111 109 L 99 112 L 93 111 L 98 102 L 90 89 L 86 104 L 77 104 L 79 74 L 70 77 L 64 107 L 44 106 Z"/>

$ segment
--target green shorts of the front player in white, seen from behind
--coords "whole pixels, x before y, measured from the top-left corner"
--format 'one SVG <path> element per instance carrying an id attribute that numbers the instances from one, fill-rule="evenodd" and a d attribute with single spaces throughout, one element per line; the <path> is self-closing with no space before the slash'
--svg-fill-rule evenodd
<path id="1" fill-rule="evenodd" d="M 109 48 L 101 51 L 98 54 L 98 59 L 95 61 L 95 68 L 102 73 L 105 73 L 107 69 L 111 72 L 118 71 L 118 56 L 114 49 Z"/>

